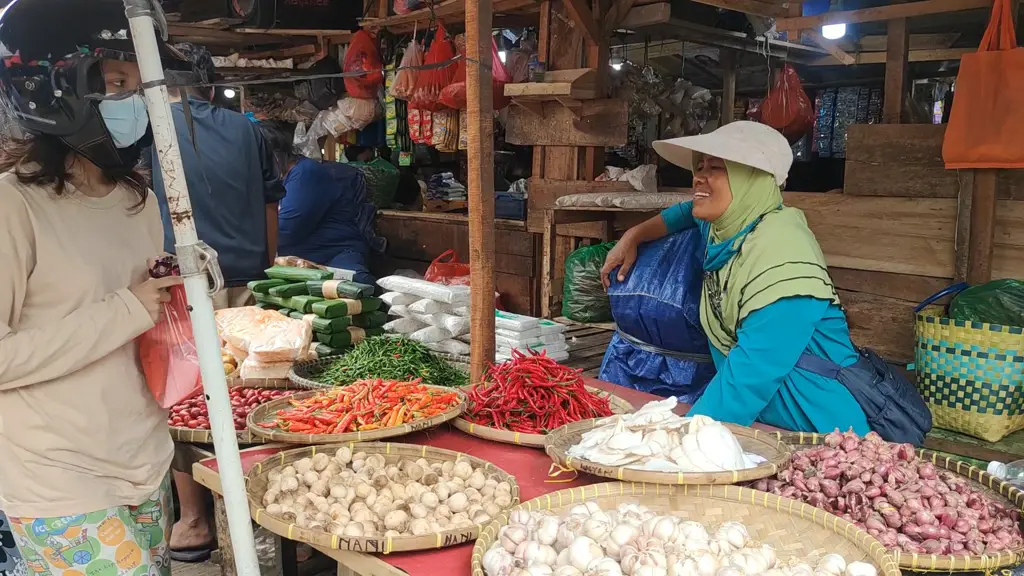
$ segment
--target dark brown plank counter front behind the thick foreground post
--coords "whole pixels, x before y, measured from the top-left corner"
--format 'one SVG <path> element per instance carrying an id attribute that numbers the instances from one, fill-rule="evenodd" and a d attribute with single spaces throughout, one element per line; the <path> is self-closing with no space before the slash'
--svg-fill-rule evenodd
<path id="1" fill-rule="evenodd" d="M 423 273 L 450 248 L 469 262 L 469 227 L 465 219 L 420 219 L 415 215 L 380 214 L 377 231 L 387 238 L 388 261 L 381 269 L 390 273 L 408 268 Z M 535 235 L 522 224 L 498 220 L 495 230 L 495 281 L 502 303 L 509 312 L 536 316 L 537 301 Z"/>

